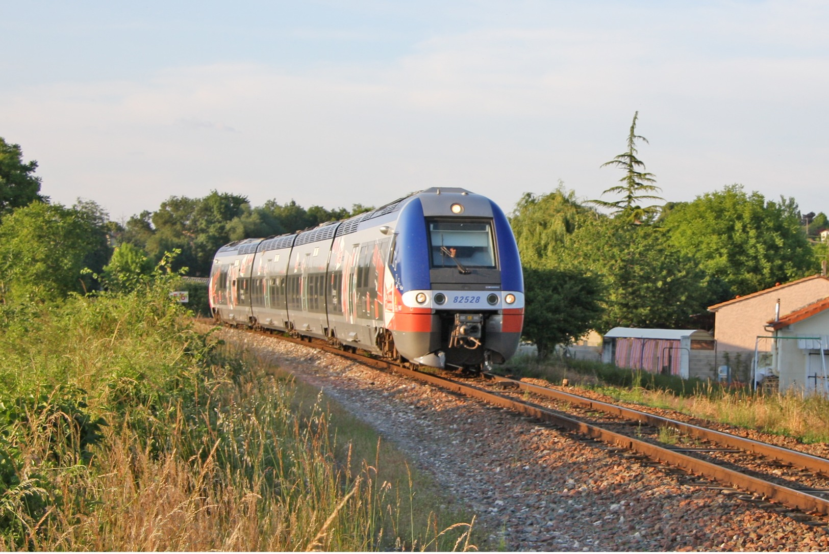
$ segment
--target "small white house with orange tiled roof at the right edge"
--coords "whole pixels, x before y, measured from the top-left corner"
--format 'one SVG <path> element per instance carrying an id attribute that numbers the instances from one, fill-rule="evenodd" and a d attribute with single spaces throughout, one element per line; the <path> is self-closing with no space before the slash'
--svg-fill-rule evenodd
<path id="1" fill-rule="evenodd" d="M 768 371 L 761 373 L 779 377 L 782 391 L 829 394 L 829 298 L 768 320 L 767 325 L 776 348 Z"/>

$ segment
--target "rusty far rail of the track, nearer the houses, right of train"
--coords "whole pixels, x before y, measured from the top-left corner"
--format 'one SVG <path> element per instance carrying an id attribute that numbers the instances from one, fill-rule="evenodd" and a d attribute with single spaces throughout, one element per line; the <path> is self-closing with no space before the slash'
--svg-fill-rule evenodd
<path id="1" fill-rule="evenodd" d="M 671 426 L 677 431 L 684 433 L 704 441 L 713 441 L 724 446 L 730 446 L 739 450 L 747 450 L 757 455 L 762 455 L 769 460 L 777 460 L 785 464 L 796 465 L 804 470 L 810 470 L 823 475 L 829 476 L 829 460 L 821 458 L 816 455 L 807 454 L 806 452 L 798 452 L 783 446 L 776 446 L 768 444 L 767 442 L 754 441 L 743 436 L 730 435 L 715 429 L 707 429 L 705 427 L 692 425 L 691 423 L 679 422 L 668 417 L 656 416 L 652 413 L 640 412 L 633 408 L 616 406 L 615 404 L 608 404 L 592 398 L 582 397 L 576 394 L 565 393 L 564 391 L 556 390 L 555 388 L 540 387 L 531 383 L 523 383 L 516 381 L 516 379 L 505 378 L 498 375 L 487 373 L 488 378 L 492 378 L 497 382 L 510 383 L 517 386 L 523 391 L 529 393 L 539 394 L 541 396 L 550 397 L 555 400 L 570 402 L 572 404 L 589 407 L 598 410 L 599 412 L 608 413 L 613 416 L 623 417 L 624 419 L 632 420 L 634 422 L 642 422 L 652 426 Z"/>

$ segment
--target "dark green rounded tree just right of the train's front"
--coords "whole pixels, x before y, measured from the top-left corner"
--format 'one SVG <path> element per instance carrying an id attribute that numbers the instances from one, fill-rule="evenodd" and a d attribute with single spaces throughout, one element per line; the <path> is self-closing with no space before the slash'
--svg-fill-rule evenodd
<path id="1" fill-rule="evenodd" d="M 526 310 L 523 335 L 538 355 L 556 344 L 571 344 L 593 329 L 602 314 L 599 281 L 572 269 L 524 267 Z"/>

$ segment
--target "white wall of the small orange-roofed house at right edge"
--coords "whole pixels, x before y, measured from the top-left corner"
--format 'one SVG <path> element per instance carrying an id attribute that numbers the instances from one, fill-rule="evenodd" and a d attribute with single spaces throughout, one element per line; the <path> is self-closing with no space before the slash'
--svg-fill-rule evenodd
<path id="1" fill-rule="evenodd" d="M 815 316 L 798 321 L 778 330 L 780 337 L 826 337 L 829 335 L 829 311 L 822 311 Z M 820 359 L 820 349 L 817 341 L 812 341 L 812 349 L 802 349 L 802 341 L 796 339 L 778 340 L 776 364 L 780 373 L 780 390 L 808 391 L 822 388 L 822 379 L 807 378 L 807 364 L 809 353 L 817 354 Z M 824 344 L 827 346 L 827 344 Z M 825 351 L 827 367 L 829 367 L 829 350 Z"/>

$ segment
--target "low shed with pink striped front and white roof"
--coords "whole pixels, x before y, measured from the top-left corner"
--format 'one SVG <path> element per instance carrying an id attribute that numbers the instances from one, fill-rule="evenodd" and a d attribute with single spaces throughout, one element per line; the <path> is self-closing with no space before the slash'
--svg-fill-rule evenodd
<path id="1" fill-rule="evenodd" d="M 716 378 L 714 337 L 705 330 L 614 327 L 604 335 L 602 361 L 681 378 Z"/>

